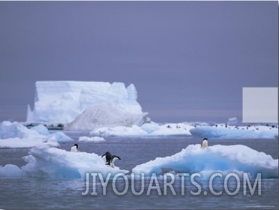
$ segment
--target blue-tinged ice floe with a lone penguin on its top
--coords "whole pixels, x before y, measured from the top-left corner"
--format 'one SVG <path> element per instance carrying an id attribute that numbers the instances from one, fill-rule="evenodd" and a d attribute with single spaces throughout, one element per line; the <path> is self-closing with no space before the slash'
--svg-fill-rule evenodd
<path id="1" fill-rule="evenodd" d="M 262 178 L 278 178 L 278 159 L 244 145 L 214 145 L 206 149 L 201 149 L 200 145 L 189 145 L 173 156 L 157 157 L 154 161 L 136 165 L 132 170 L 136 175 L 143 172 L 145 176 L 168 171 L 190 175 L 200 173 L 205 179 L 214 172 L 222 172 L 223 175 L 248 172 L 252 178 L 260 172 Z"/>

